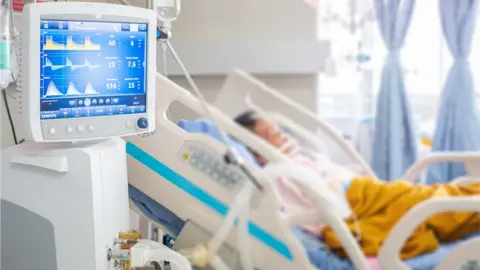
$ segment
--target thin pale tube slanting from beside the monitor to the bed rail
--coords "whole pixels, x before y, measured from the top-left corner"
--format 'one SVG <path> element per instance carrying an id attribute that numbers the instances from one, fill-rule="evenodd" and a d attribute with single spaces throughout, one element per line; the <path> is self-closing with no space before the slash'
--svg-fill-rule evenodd
<path id="1" fill-rule="evenodd" d="M 169 40 L 166 40 L 165 43 L 167 44 L 173 58 L 175 58 L 175 61 L 178 63 L 178 66 L 180 67 L 182 72 L 185 74 L 185 77 L 187 78 L 188 83 L 193 88 L 193 91 L 195 92 L 197 97 L 200 99 L 200 104 L 202 106 L 203 111 L 205 112 L 205 116 L 212 121 L 213 125 L 215 126 L 217 131 L 220 133 L 220 139 L 228 149 L 227 153 L 225 154 L 225 161 L 227 162 L 227 164 L 233 164 L 238 166 L 242 170 L 242 172 L 244 172 L 245 176 L 255 185 L 255 187 L 258 190 L 263 191 L 263 186 L 260 184 L 257 178 L 254 177 L 252 173 L 250 173 L 248 168 L 243 165 L 243 160 L 239 158 L 239 156 L 236 154 L 235 149 L 230 145 L 227 135 L 224 132 L 221 132 L 221 130 L 219 129 L 219 125 L 217 125 L 216 119 L 212 116 L 211 111 L 207 106 L 207 101 L 205 100 L 205 97 L 200 92 L 200 89 L 198 88 L 197 84 L 190 76 L 190 73 L 188 72 L 187 68 L 183 64 L 180 57 L 178 57 L 172 44 L 170 43 Z"/>

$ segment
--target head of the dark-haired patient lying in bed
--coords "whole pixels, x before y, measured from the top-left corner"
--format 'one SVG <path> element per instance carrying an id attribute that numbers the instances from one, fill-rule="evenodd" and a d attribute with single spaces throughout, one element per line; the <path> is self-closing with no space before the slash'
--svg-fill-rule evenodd
<path id="1" fill-rule="evenodd" d="M 259 137 L 266 140 L 271 145 L 280 148 L 287 142 L 287 137 L 284 132 L 275 123 L 262 118 L 254 111 L 246 111 L 237 117 L 235 122 L 245 128 L 248 128 Z M 253 152 L 257 161 L 260 164 L 265 164 L 266 159 Z"/>

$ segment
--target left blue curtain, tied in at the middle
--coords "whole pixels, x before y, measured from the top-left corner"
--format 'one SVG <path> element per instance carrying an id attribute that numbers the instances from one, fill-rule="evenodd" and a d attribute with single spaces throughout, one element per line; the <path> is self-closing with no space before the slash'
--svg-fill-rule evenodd
<path id="1" fill-rule="evenodd" d="M 377 100 L 372 168 L 380 179 L 398 179 L 417 159 L 412 113 L 405 93 L 399 52 L 415 0 L 374 0 L 382 39 L 389 53 Z"/>

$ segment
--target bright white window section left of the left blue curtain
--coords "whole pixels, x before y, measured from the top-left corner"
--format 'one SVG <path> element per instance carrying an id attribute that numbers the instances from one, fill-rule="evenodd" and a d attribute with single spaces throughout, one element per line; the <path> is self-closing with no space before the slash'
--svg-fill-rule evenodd
<path id="1" fill-rule="evenodd" d="M 318 111 L 322 116 L 349 117 L 363 110 L 359 102 L 371 91 L 371 70 L 364 71 L 355 60 L 367 52 L 373 41 L 373 21 L 351 31 L 351 0 L 322 0 L 318 4 L 318 37 L 332 43 L 327 69 L 331 74 L 318 76 Z M 355 21 L 368 20 L 372 1 L 357 1 Z M 352 96 L 354 98 L 352 98 Z"/>

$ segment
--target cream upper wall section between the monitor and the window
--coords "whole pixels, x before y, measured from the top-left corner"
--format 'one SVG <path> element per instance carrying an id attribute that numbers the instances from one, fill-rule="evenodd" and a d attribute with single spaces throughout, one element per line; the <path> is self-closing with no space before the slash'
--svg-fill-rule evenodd
<path id="1" fill-rule="evenodd" d="M 329 43 L 317 40 L 316 10 L 301 0 L 182 3 L 172 44 L 191 73 L 225 74 L 233 68 L 262 74 L 323 70 Z M 172 74 L 183 74 L 175 64 L 170 66 Z"/>

